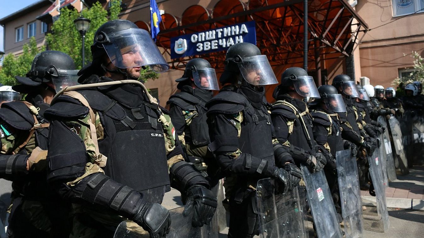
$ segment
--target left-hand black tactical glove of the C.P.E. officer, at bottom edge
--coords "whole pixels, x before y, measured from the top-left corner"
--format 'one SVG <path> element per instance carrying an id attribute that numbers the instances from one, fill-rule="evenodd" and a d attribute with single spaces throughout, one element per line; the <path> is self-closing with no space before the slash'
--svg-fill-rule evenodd
<path id="1" fill-rule="evenodd" d="M 146 202 L 132 220 L 143 227 L 151 238 L 165 238 L 171 226 L 169 211 L 157 203 Z"/>

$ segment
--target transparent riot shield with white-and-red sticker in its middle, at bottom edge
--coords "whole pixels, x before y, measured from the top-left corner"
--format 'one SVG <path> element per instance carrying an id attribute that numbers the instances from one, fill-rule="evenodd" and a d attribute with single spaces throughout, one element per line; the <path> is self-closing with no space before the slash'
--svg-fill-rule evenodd
<path id="1" fill-rule="evenodd" d="M 324 171 L 321 170 L 312 174 L 304 165 L 301 165 L 301 169 L 318 237 L 342 237 L 340 223 Z"/>

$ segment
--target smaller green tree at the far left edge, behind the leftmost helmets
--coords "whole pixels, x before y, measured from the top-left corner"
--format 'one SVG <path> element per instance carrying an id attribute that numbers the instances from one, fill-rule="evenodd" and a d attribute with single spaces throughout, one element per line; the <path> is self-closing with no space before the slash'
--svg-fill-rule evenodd
<path id="1" fill-rule="evenodd" d="M 31 64 L 36 54 L 45 50 L 45 46 L 41 49 L 37 47 L 34 37 L 31 37 L 28 44 L 22 46 L 22 54 L 15 57 L 8 54 L 3 59 L 3 65 L 0 69 L 0 82 L 3 85 L 16 85 L 15 75 L 25 76 L 31 70 Z"/>

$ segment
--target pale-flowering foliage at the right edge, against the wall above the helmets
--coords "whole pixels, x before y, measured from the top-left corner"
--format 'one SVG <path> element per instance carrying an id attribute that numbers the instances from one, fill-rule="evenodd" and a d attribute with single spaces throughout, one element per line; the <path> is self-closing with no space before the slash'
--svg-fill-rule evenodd
<path id="1" fill-rule="evenodd" d="M 407 84 L 414 81 L 419 81 L 421 84 L 424 84 L 424 58 L 421 57 L 418 52 L 413 51 L 411 54 L 413 58 L 413 69 L 408 76 L 402 78 L 396 78 L 393 80 L 392 85 L 397 87 L 396 96 L 402 96 L 404 94 L 404 88 Z"/>

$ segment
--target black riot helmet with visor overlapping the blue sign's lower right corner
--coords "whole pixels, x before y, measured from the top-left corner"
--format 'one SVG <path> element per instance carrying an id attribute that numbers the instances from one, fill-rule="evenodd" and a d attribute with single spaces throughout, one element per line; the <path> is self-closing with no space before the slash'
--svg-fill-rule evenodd
<path id="1" fill-rule="evenodd" d="M 266 55 L 257 46 L 242 42 L 228 48 L 225 56 L 225 70 L 219 82 L 222 84 L 240 79 L 250 85 L 270 85 L 278 83 Z"/>

